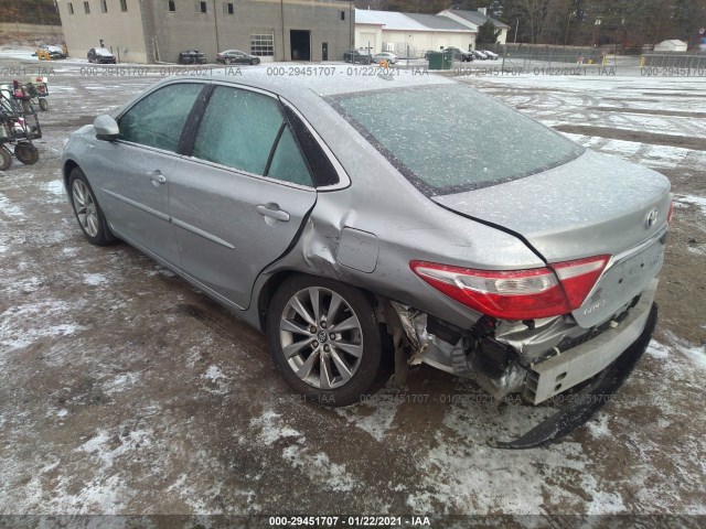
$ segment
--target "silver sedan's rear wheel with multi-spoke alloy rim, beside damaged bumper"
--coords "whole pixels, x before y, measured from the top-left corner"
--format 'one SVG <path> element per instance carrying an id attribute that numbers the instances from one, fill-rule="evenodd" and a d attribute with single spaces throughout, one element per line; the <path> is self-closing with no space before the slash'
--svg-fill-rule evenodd
<path id="1" fill-rule="evenodd" d="M 281 377 L 308 401 L 349 406 L 377 389 L 381 326 L 371 302 L 353 287 L 293 277 L 271 300 L 267 336 Z"/>

